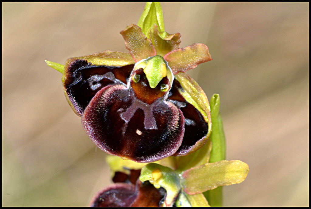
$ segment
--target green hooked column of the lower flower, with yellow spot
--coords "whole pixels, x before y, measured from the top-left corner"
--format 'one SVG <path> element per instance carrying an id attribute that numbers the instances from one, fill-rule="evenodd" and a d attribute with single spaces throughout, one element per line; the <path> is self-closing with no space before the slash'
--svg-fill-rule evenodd
<path id="1" fill-rule="evenodd" d="M 167 195 L 165 198 L 165 207 L 171 207 L 181 189 L 180 178 L 174 170 L 156 164 L 149 163 L 142 168 L 139 180 L 149 181 L 155 188 L 165 188 Z"/>

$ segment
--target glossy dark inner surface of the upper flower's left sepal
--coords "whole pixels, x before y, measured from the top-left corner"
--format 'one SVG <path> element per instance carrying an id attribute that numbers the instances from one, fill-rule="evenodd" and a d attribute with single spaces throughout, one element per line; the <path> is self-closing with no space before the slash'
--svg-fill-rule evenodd
<path id="1" fill-rule="evenodd" d="M 64 89 L 81 116 L 95 94 L 107 85 L 127 82 L 134 65 L 124 67 L 95 66 L 86 60 L 72 61 L 65 72 Z"/>

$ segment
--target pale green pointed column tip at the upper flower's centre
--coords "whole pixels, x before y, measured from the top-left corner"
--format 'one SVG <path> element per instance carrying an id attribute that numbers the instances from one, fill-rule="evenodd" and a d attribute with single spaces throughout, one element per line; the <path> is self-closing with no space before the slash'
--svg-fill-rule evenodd
<path id="1" fill-rule="evenodd" d="M 156 88 L 162 78 L 167 75 L 167 68 L 163 57 L 156 55 L 148 60 L 148 63 L 144 69 L 149 86 Z"/>

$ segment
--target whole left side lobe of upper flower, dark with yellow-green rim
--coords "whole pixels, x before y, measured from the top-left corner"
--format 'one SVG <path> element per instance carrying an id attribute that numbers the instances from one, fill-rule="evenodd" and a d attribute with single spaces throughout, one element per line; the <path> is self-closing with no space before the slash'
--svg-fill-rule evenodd
<path id="1" fill-rule="evenodd" d="M 126 85 L 134 63 L 130 54 L 113 51 L 68 59 L 63 73 L 63 86 L 72 109 L 81 116 L 101 88 Z"/>

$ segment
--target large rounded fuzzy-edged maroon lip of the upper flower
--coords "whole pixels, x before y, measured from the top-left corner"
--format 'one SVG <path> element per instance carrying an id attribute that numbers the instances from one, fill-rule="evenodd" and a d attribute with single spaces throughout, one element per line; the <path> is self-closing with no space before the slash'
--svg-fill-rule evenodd
<path id="1" fill-rule="evenodd" d="M 123 85 L 96 93 L 82 125 L 100 149 L 141 163 L 173 155 L 184 134 L 183 113 L 173 103 L 159 98 L 148 105 Z"/>

